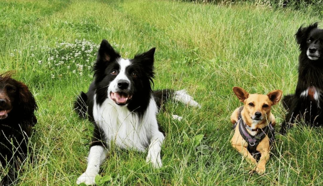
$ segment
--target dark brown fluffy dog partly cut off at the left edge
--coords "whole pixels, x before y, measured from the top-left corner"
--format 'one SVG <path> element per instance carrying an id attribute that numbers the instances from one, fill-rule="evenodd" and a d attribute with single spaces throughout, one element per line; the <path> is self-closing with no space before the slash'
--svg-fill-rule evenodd
<path id="1" fill-rule="evenodd" d="M 35 99 L 28 87 L 11 78 L 11 73 L 0 75 L 0 163 L 9 172 L 0 186 L 16 185 L 20 165 L 26 160 L 28 138 L 37 123 Z"/>

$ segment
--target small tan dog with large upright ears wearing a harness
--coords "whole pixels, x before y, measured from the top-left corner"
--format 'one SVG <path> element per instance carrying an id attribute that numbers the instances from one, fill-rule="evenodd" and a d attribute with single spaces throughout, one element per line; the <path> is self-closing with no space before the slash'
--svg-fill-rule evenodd
<path id="1" fill-rule="evenodd" d="M 240 87 L 234 87 L 233 91 L 244 106 L 235 109 L 231 115 L 231 122 L 235 124 L 232 146 L 255 164 L 257 161 L 252 154 L 259 152 L 256 172 L 264 173 L 269 159 L 270 143 L 275 135 L 273 126 L 276 122 L 270 109 L 279 102 L 283 92 L 274 90 L 267 95 L 249 94 Z"/>

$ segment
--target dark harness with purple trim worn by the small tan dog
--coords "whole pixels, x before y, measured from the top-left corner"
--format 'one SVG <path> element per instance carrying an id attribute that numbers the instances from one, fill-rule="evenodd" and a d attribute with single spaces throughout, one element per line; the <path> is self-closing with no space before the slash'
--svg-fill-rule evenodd
<path id="1" fill-rule="evenodd" d="M 272 126 L 271 122 L 269 123 L 268 126 L 260 129 L 260 131 L 257 132 L 256 135 L 250 135 L 249 132 L 247 131 L 246 124 L 243 121 L 241 115 L 238 117 L 238 121 L 234 124 L 233 129 L 239 124 L 239 132 L 243 139 L 248 143 L 247 149 L 249 153 L 255 153 L 256 148 L 259 144 L 259 142 L 264 139 L 264 137 L 267 135 L 269 138 L 269 144 L 271 145 L 274 140 L 275 140 L 275 129 Z"/>

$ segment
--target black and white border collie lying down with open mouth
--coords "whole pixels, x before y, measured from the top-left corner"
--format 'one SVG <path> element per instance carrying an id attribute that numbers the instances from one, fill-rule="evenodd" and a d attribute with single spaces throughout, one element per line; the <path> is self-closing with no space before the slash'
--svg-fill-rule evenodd
<path id="1" fill-rule="evenodd" d="M 148 147 L 146 162 L 154 168 L 161 167 L 164 135 L 156 120 L 161 104 L 173 98 L 200 107 L 183 90 L 152 90 L 154 52 L 152 48 L 133 59 L 123 59 L 106 40 L 101 42 L 93 67 L 94 81 L 74 105 L 80 117 L 85 118 L 88 113 L 95 125 L 88 167 L 77 184 L 95 184 L 111 143 L 141 152 Z"/>

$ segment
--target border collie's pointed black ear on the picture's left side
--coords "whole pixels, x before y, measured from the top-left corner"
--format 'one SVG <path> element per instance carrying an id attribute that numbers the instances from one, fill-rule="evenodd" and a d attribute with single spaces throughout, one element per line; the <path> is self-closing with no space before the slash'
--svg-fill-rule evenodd
<path id="1" fill-rule="evenodd" d="M 112 61 L 117 57 L 120 57 L 120 54 L 113 50 L 107 40 L 102 40 L 98 51 L 97 61 Z"/>

